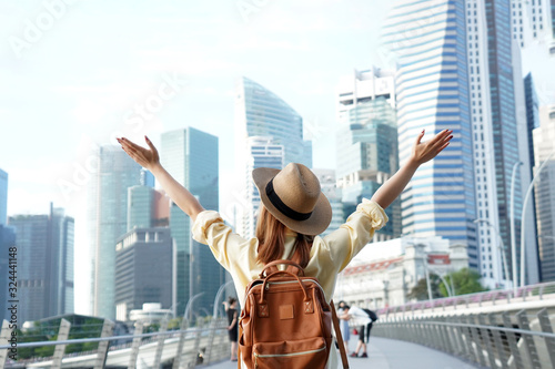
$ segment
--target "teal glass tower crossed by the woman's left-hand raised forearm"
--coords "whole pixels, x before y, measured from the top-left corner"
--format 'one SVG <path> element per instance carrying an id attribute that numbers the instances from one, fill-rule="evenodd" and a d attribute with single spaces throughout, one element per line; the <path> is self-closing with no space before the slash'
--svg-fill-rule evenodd
<path id="1" fill-rule="evenodd" d="M 180 184 L 206 209 L 219 209 L 218 137 L 186 127 L 162 134 L 160 160 Z M 214 296 L 225 283 L 225 270 L 205 245 L 191 238 L 191 222 L 175 204 L 170 209 L 171 236 L 176 249 L 176 304 L 182 315 L 189 299 L 203 294 L 195 307 L 212 311 Z"/>

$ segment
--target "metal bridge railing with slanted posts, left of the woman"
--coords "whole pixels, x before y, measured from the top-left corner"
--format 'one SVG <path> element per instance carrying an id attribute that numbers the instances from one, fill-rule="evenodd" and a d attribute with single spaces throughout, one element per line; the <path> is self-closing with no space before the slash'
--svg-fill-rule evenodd
<path id="1" fill-rule="evenodd" d="M 230 356 L 228 324 L 225 319 L 212 319 L 208 327 L 202 324 L 189 328 L 183 324 L 179 330 L 167 330 L 162 324 L 157 332 L 142 334 L 142 324 L 135 324 L 133 335 L 112 336 L 113 322 L 104 321 L 101 337 L 67 339 L 69 322 L 60 322 L 58 339 L 54 341 L 16 342 L 10 341 L 11 330 L 4 320 L 0 336 L 0 369 L 3 368 L 104 368 L 118 366 L 137 368 L 138 361 L 149 368 L 159 368 L 162 363 L 172 365 L 173 369 L 193 368 L 199 363 L 218 362 Z M 97 350 L 64 355 L 71 344 L 99 342 Z M 110 344 L 113 344 L 110 346 Z M 36 357 L 12 360 L 11 355 L 22 348 L 56 346 L 52 357 Z"/>

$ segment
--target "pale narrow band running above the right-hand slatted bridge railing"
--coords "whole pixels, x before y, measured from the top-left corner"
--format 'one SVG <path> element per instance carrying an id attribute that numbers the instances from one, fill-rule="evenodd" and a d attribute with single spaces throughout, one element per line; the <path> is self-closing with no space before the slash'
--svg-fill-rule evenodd
<path id="1" fill-rule="evenodd" d="M 389 315 L 396 312 L 410 312 L 425 309 L 458 307 L 467 308 L 470 305 L 482 306 L 484 303 L 491 305 L 509 304 L 514 300 L 527 301 L 532 299 L 555 298 L 555 283 L 529 285 L 516 289 L 496 289 L 485 293 L 461 295 L 454 297 L 436 298 L 433 300 L 408 303 L 400 306 L 391 306 L 377 309 L 377 314 Z"/>

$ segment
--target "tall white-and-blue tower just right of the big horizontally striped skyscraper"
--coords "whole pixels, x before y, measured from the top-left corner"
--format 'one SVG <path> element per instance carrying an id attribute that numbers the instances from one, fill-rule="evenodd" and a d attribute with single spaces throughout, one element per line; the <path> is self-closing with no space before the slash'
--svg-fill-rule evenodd
<path id="1" fill-rule="evenodd" d="M 526 189 L 523 184 L 531 180 L 526 86 L 519 48 L 513 38 L 511 8 L 508 0 L 466 1 L 477 218 L 491 224 L 478 224 L 480 273 L 490 287 L 495 287 L 496 280 L 512 279 L 512 268 L 508 275 L 503 273 L 500 243 L 506 246 L 505 258 L 512 265 L 511 232 L 513 227 L 515 244 L 519 245 L 523 191 Z M 511 206 L 514 206 L 513 225 Z M 529 225 L 533 227 L 533 222 Z M 533 233 L 528 232 L 527 239 L 534 244 L 531 249 L 535 249 Z M 519 252 L 516 254 L 519 264 Z M 532 271 L 529 280 L 537 280 Z"/>

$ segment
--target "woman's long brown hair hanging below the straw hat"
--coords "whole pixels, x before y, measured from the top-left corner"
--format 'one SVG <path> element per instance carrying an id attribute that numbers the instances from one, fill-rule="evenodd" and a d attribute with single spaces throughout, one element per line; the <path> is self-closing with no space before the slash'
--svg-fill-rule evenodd
<path id="1" fill-rule="evenodd" d="M 255 236 L 259 239 L 258 262 L 268 264 L 281 259 L 285 250 L 285 230 L 283 223 L 278 221 L 265 207 L 260 205 L 259 221 L 256 223 Z M 291 257 L 303 268 L 309 265 L 313 236 L 297 233 L 294 254 Z"/>

